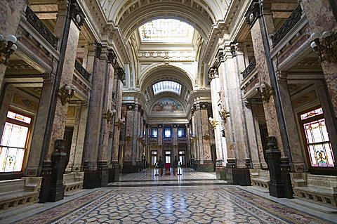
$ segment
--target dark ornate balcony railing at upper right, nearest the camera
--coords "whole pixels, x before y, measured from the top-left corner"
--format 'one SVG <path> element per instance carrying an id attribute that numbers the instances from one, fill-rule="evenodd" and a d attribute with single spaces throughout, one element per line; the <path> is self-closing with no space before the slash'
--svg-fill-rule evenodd
<path id="1" fill-rule="evenodd" d="M 286 19 L 286 22 L 282 25 L 282 27 L 277 30 L 277 32 L 272 36 L 272 46 L 277 46 L 279 41 L 286 36 L 286 34 L 296 25 L 296 23 L 300 20 L 300 16 L 302 15 L 302 9 L 300 6 L 291 13 L 289 18 Z"/>

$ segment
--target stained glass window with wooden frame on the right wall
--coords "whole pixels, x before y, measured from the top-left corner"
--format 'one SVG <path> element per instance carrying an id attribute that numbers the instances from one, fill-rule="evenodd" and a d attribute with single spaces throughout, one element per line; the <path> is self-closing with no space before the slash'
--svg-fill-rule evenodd
<path id="1" fill-rule="evenodd" d="M 303 128 L 308 146 L 311 166 L 314 167 L 334 167 L 334 158 L 332 147 L 329 140 L 329 134 L 326 129 L 324 118 L 315 119 L 322 114 L 322 108 L 312 110 L 308 113 L 301 114 L 300 117 L 304 121 Z M 310 121 L 305 121 L 308 118 Z"/>

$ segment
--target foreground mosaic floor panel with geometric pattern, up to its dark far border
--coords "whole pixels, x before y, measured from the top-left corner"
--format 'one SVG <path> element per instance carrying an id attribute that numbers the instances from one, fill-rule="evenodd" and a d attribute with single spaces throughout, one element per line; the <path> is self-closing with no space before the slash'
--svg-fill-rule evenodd
<path id="1" fill-rule="evenodd" d="M 328 222 L 234 186 L 166 186 L 100 188 L 21 223 Z"/>

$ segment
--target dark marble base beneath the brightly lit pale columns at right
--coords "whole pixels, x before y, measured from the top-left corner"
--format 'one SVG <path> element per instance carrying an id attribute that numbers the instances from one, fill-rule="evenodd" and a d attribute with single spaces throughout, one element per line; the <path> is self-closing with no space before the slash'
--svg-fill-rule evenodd
<path id="1" fill-rule="evenodd" d="M 225 167 L 225 175 L 227 183 L 240 186 L 250 186 L 251 176 L 247 168 Z"/>

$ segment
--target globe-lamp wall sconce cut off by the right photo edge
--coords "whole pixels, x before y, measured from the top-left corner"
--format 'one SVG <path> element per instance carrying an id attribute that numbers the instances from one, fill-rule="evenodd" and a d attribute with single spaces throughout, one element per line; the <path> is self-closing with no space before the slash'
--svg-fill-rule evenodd
<path id="1" fill-rule="evenodd" d="M 322 37 L 322 40 L 320 38 Z M 325 31 L 322 36 L 319 32 L 311 34 L 312 43 L 310 46 L 317 52 L 321 62 L 326 60 L 331 63 L 337 62 L 337 33 Z"/>

